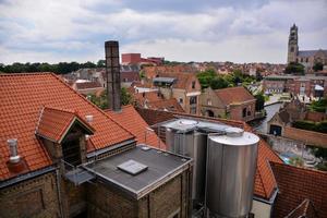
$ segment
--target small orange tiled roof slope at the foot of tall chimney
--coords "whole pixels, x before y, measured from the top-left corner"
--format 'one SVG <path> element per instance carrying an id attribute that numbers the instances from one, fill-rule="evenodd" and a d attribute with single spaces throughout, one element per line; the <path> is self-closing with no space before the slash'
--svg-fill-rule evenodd
<path id="1" fill-rule="evenodd" d="M 121 112 L 106 110 L 106 112 L 117 122 L 122 123 L 125 129 L 131 131 L 136 136 L 137 143 L 145 143 L 147 145 L 166 149 L 166 145 L 149 130 L 148 124 L 142 119 L 135 108 L 131 105 L 123 106 Z"/>

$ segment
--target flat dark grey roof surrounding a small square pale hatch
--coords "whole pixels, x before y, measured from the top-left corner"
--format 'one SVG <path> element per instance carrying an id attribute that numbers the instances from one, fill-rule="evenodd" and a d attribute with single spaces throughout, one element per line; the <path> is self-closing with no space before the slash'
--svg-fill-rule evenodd
<path id="1" fill-rule="evenodd" d="M 135 148 L 88 164 L 83 168 L 138 199 L 187 169 L 192 162 L 187 157 L 144 147 L 147 146 L 137 145 Z M 147 166 L 147 169 L 133 175 L 118 168 L 129 160 Z"/>

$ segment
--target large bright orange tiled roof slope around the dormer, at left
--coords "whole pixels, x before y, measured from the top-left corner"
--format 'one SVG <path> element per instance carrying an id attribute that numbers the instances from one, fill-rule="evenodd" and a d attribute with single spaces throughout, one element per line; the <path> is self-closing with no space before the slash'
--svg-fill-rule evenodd
<path id="1" fill-rule="evenodd" d="M 25 158 L 29 170 L 51 165 L 35 136 L 43 106 L 76 110 L 82 118 L 92 114 L 95 134 L 90 136 L 88 152 L 134 138 L 110 116 L 51 73 L 0 74 L 0 180 L 12 177 L 5 165 L 9 138 L 19 140 L 19 154 Z"/>

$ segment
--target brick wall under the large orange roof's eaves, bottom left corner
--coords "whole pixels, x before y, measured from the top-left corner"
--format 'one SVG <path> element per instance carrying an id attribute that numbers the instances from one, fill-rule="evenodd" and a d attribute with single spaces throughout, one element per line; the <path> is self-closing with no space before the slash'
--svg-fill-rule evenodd
<path id="1" fill-rule="evenodd" d="M 0 190 L 0 217 L 60 217 L 56 173 Z"/>

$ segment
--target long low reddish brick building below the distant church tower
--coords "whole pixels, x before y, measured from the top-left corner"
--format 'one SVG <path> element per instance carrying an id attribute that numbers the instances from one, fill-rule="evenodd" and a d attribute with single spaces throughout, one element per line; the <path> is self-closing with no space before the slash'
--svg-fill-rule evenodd
<path id="1" fill-rule="evenodd" d="M 320 97 L 327 95 L 327 76 L 269 75 L 264 78 L 263 90 L 265 93 L 291 93 L 292 95 Z"/>

